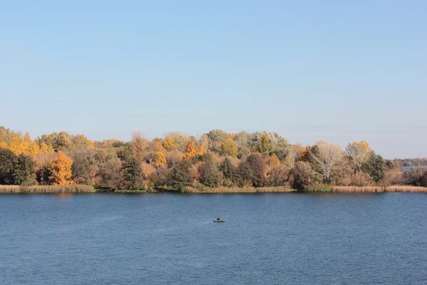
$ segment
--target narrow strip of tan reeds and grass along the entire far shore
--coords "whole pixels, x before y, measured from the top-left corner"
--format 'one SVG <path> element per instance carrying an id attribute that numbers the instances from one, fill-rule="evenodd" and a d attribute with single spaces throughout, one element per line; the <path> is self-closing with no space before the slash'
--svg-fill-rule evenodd
<path id="1" fill-rule="evenodd" d="M 197 189 L 186 187 L 182 191 L 172 191 L 168 189 L 152 190 L 100 190 L 87 185 L 0 185 L 0 193 L 4 194 L 56 194 L 56 193 L 199 193 L 199 194 L 227 194 L 227 193 L 290 193 L 290 192 L 330 192 L 330 193 L 381 193 L 381 192 L 413 192 L 427 193 L 427 187 L 394 185 L 389 187 L 381 186 L 318 186 L 310 187 L 302 191 L 288 187 L 218 187 Z"/>

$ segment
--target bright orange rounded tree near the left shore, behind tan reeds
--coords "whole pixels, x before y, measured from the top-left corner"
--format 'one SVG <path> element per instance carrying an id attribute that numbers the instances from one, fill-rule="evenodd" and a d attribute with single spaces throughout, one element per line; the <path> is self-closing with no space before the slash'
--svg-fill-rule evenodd
<path id="1" fill-rule="evenodd" d="M 70 185 L 73 183 L 71 180 L 71 166 L 73 160 L 65 155 L 64 152 L 59 151 L 56 157 L 48 165 L 48 170 L 51 173 L 49 180 L 53 185 Z"/>

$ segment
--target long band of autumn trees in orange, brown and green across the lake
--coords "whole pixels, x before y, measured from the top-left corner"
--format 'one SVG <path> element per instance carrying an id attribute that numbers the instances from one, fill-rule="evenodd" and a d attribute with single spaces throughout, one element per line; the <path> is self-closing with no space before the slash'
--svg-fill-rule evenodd
<path id="1" fill-rule="evenodd" d="M 88 140 L 66 132 L 35 140 L 0 127 L 0 185 L 90 185 L 111 190 L 186 187 L 414 185 L 427 172 L 402 172 L 409 160 L 384 160 L 369 143 L 320 140 L 303 147 L 278 133 L 211 130 L 199 138 L 170 133 L 147 140 Z M 423 160 L 418 160 L 423 161 Z M 420 162 L 420 163 L 421 163 Z"/>

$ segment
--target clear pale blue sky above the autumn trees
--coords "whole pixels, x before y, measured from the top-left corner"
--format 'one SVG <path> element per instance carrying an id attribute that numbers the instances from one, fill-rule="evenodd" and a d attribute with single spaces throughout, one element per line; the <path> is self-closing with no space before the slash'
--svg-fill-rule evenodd
<path id="1" fill-rule="evenodd" d="M 0 1 L 0 125 L 427 156 L 427 1 Z"/>

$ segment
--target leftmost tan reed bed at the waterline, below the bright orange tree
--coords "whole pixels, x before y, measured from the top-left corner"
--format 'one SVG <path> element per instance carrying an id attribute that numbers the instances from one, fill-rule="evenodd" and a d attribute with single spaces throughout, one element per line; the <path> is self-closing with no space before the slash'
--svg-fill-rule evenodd
<path id="1" fill-rule="evenodd" d="M 0 185 L 0 193 L 93 193 L 96 190 L 88 185 Z"/>

